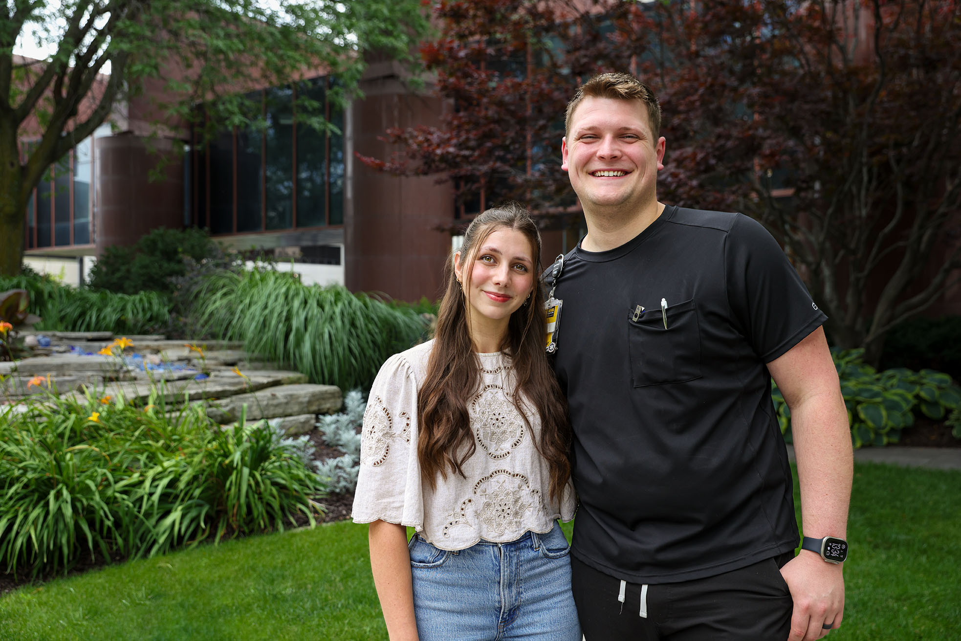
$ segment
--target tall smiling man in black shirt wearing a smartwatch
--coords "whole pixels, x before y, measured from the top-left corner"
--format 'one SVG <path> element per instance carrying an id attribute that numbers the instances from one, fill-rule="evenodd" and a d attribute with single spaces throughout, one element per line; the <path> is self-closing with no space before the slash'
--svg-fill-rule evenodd
<path id="1" fill-rule="evenodd" d="M 657 201 L 659 128 L 657 99 L 625 74 L 567 109 L 562 168 L 587 235 L 556 278 L 554 365 L 574 425 L 581 627 L 587 641 L 812 641 L 841 625 L 852 476 L 826 317 L 751 218 Z M 811 537 L 797 556 L 771 377 Z"/>

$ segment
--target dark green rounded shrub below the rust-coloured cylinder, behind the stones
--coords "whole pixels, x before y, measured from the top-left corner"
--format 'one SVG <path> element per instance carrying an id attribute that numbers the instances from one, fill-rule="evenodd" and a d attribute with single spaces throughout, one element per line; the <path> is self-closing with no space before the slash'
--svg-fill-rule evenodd
<path id="1" fill-rule="evenodd" d="M 198 229 L 156 229 L 129 247 L 108 247 L 90 271 L 89 286 L 122 294 L 158 291 L 170 295 L 171 279 L 186 273 L 185 259 L 202 261 L 216 243 Z"/>

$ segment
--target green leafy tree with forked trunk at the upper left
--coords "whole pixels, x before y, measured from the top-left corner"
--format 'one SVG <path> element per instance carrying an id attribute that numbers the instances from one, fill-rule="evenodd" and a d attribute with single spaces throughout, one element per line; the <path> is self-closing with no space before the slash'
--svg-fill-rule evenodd
<path id="1" fill-rule="evenodd" d="M 426 25 L 420 0 L 3 0 L 0 3 L 0 275 L 20 270 L 24 211 L 47 168 L 89 136 L 111 109 L 147 85 L 176 96 L 164 118 L 243 125 L 241 95 L 308 69 L 357 87 L 368 54 L 405 58 Z M 18 37 L 55 44 L 45 61 L 13 55 Z M 109 65 L 109 66 L 108 66 Z M 109 76 L 103 75 L 109 69 Z M 314 127 L 318 106 L 299 101 Z M 37 137 L 30 150 L 20 139 Z M 22 159 L 22 160 L 21 160 Z"/>

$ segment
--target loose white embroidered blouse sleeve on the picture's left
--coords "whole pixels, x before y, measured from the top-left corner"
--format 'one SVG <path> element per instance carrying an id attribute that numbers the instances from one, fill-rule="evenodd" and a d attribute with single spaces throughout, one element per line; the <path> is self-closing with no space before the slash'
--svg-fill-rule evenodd
<path id="1" fill-rule="evenodd" d="M 367 400 L 360 436 L 360 470 L 352 517 L 424 527 L 421 471 L 417 458 L 417 389 L 403 355 L 383 363 Z"/>

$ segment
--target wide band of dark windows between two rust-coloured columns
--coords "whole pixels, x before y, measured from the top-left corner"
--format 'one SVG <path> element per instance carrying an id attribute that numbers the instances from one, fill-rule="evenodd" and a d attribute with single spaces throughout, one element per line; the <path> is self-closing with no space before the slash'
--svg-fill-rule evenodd
<path id="1" fill-rule="evenodd" d="M 315 78 L 249 96 L 262 105 L 266 128 L 209 141 L 191 186 L 199 225 L 211 234 L 245 234 L 343 224 L 343 113 L 328 101 L 330 83 Z M 338 131 L 318 133 L 298 122 L 298 96 L 316 101 Z"/>

